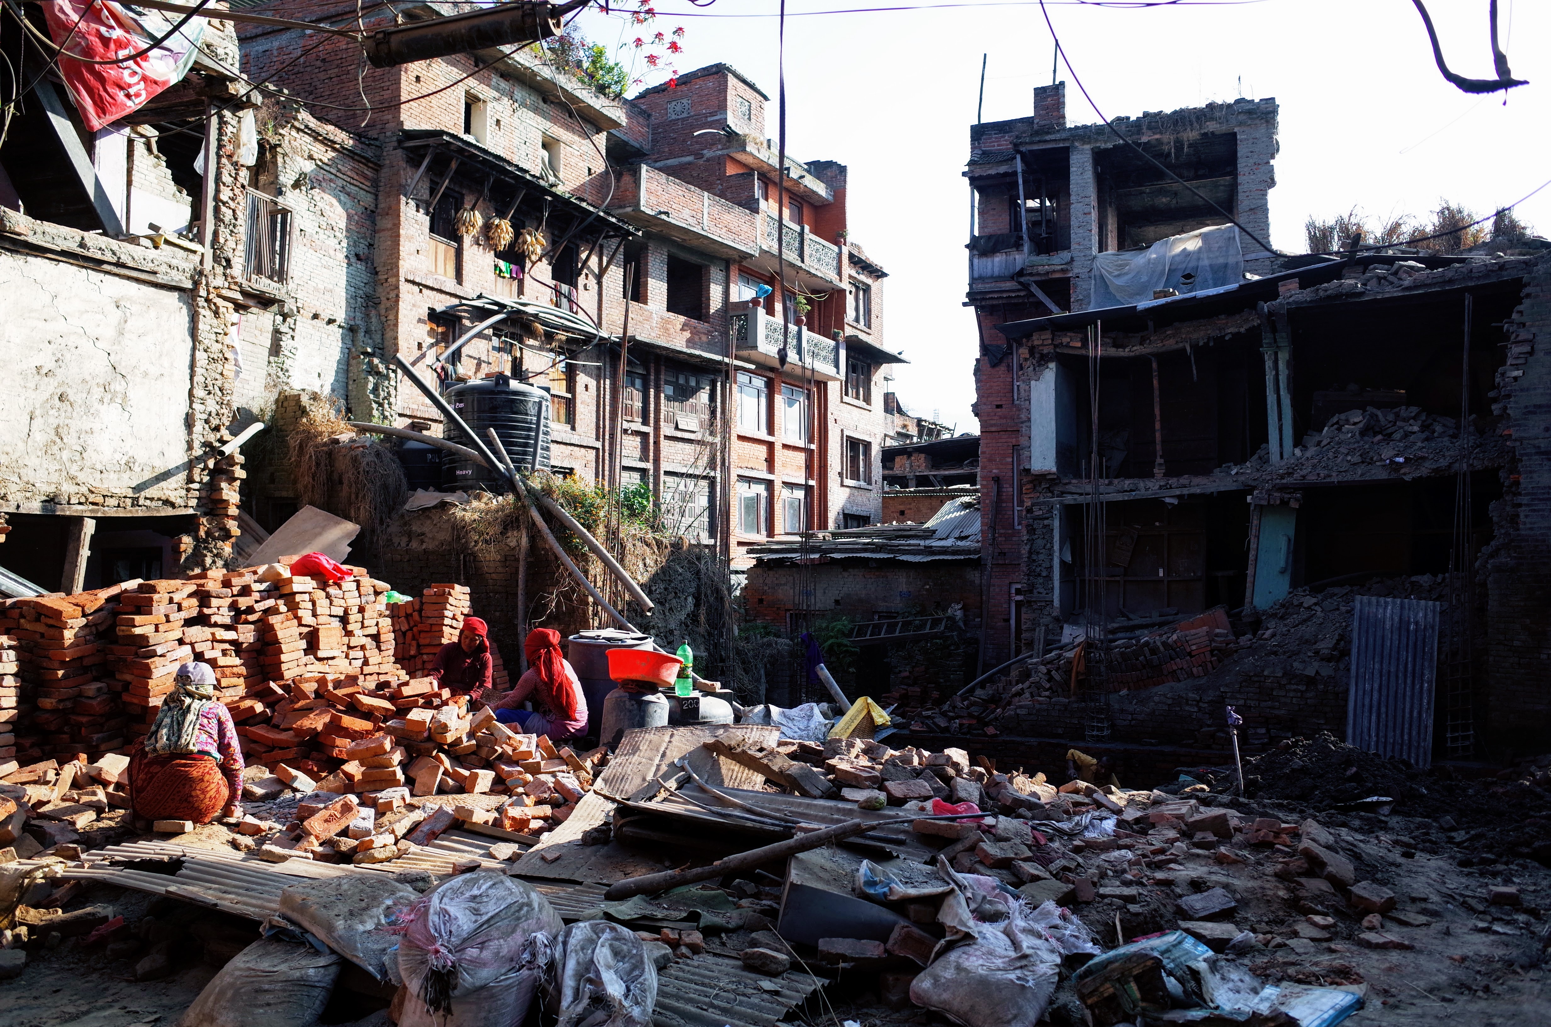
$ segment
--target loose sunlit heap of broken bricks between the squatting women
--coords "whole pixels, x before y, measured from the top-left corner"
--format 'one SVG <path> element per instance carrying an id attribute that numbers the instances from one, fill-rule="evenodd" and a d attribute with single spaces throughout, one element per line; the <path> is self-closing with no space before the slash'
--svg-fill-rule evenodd
<path id="1" fill-rule="evenodd" d="M 427 715 L 414 717 L 420 712 Z M 271 802 L 287 790 L 301 799 L 285 824 L 250 811 L 233 844 L 276 863 L 383 863 L 456 824 L 535 842 L 569 819 L 606 763 L 602 748 L 557 748 L 544 735 L 510 731 L 489 707 L 467 714 L 458 703 L 416 707 L 363 734 L 346 746 L 344 763 L 318 780 L 279 763 L 271 777 L 245 785 L 250 801 Z M 437 794 L 472 799 L 420 802 Z"/>

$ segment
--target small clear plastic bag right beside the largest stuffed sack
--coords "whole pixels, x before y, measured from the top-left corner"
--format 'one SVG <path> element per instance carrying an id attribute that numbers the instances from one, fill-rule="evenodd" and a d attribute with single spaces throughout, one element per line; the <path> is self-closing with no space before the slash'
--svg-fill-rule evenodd
<path id="1" fill-rule="evenodd" d="M 647 1027 L 658 968 L 634 931 L 582 920 L 560 932 L 546 991 L 555 1027 Z"/>

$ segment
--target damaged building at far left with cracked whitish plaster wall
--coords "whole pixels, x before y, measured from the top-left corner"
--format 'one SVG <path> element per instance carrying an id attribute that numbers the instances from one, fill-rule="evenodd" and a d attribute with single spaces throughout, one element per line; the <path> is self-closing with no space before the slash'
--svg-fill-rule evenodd
<path id="1" fill-rule="evenodd" d="M 181 81 L 93 132 L 5 19 L 34 81 L 0 146 L 3 594 L 219 565 L 239 535 L 253 116 L 231 26 L 191 36 Z"/>

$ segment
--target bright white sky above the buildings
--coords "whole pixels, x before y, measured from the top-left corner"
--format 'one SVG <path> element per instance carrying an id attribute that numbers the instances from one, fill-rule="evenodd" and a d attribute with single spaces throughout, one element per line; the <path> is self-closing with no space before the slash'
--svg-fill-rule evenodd
<path id="1" fill-rule="evenodd" d="M 974 431 L 974 320 L 966 289 L 968 185 L 962 172 L 988 53 L 985 121 L 1033 113 L 1053 47 L 1038 3 L 794 17 L 918 0 L 788 0 L 788 152 L 850 166 L 851 239 L 889 270 L 886 344 L 910 413 Z M 1410 0 L 1259 0 L 1111 9 L 1050 0 L 1050 19 L 1093 101 L 1111 118 L 1235 96 L 1275 96 L 1281 112 L 1272 245 L 1301 253 L 1303 222 L 1359 206 L 1425 214 L 1441 197 L 1477 216 L 1551 178 L 1551 3 L 1501 0 L 1500 36 L 1517 78 L 1469 96 L 1438 74 Z M 777 0 L 658 0 L 653 31 L 682 25 L 689 71 L 724 61 L 771 98 L 776 138 Z M 1432 0 L 1450 70 L 1494 78 L 1487 0 Z M 642 34 L 602 14 L 605 45 Z M 624 34 L 622 34 L 624 33 Z M 1067 123 L 1098 116 L 1072 76 Z M 648 79 L 658 82 L 661 76 Z M 1242 82 L 1242 85 L 1241 85 Z M 1551 188 L 1517 208 L 1551 234 Z"/>

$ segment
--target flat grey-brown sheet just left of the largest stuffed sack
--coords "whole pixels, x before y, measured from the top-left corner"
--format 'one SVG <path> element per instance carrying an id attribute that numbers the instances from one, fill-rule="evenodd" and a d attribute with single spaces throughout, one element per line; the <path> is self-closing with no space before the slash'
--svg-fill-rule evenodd
<path id="1" fill-rule="evenodd" d="M 388 980 L 399 939 L 383 925 L 394 909 L 417 898 L 413 887 L 386 873 L 352 873 L 282 887 L 279 909 L 377 980 Z"/>

